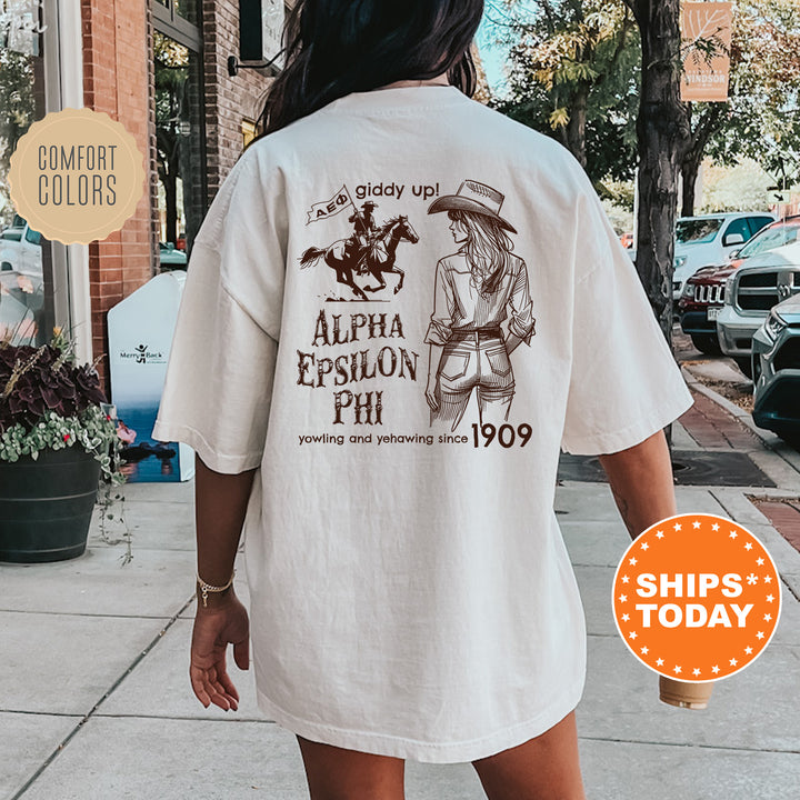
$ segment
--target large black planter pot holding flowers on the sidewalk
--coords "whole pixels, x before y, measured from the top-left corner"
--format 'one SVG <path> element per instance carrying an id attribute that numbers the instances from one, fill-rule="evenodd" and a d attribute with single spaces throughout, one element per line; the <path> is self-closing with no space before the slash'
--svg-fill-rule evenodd
<path id="1" fill-rule="evenodd" d="M 100 463 L 80 447 L 0 461 L 0 561 L 36 563 L 86 550 Z"/>

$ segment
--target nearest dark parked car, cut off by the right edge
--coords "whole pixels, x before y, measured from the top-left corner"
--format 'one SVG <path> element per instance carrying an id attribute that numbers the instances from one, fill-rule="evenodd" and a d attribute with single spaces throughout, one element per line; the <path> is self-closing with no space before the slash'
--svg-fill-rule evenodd
<path id="1" fill-rule="evenodd" d="M 800 293 L 778 303 L 752 339 L 753 421 L 800 443 Z"/>

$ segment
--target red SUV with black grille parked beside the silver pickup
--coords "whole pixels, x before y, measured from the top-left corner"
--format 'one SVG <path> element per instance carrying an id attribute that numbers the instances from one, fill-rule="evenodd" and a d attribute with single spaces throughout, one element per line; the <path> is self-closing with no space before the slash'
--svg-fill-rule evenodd
<path id="1" fill-rule="evenodd" d="M 717 318 L 724 306 L 724 286 L 728 278 L 749 258 L 797 241 L 800 217 L 789 217 L 762 228 L 740 250 L 730 253 L 729 261 L 718 267 L 701 267 L 683 287 L 678 301 L 681 329 L 691 337 L 700 352 L 721 352 L 717 336 Z"/>

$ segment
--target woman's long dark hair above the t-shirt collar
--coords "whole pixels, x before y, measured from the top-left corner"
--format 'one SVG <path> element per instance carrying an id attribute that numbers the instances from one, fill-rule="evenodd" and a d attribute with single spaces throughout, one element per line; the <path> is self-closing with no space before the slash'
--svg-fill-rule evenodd
<path id="1" fill-rule="evenodd" d="M 476 90 L 470 47 L 483 0 L 297 0 L 283 31 L 284 68 L 267 96 L 261 136 L 351 92 L 447 72 Z"/>

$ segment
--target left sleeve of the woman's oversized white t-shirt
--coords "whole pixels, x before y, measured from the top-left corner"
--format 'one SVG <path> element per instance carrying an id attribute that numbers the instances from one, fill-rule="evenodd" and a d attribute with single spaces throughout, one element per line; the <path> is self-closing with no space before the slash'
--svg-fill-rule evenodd
<path id="1" fill-rule="evenodd" d="M 189 260 L 153 437 L 189 444 L 217 472 L 263 454 L 286 273 L 280 196 L 279 177 L 247 151 Z"/>

